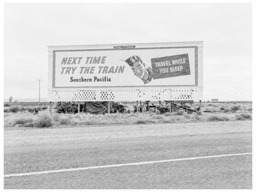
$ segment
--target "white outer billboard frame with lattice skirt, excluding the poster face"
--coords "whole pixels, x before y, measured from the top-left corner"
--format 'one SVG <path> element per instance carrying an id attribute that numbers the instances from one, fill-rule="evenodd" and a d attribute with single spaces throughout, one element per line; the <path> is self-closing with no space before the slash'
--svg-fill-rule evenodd
<path id="1" fill-rule="evenodd" d="M 144 90 L 145 94 L 150 94 L 151 90 L 156 92 L 167 91 L 169 93 L 172 92 L 196 92 L 196 97 L 190 98 L 190 100 L 202 100 L 202 48 L 203 41 L 191 41 L 191 42 L 157 42 L 157 43 L 135 43 L 135 44 L 103 44 L 103 45 L 86 45 L 86 46 L 48 46 L 49 47 L 49 81 L 48 81 L 48 93 L 49 93 L 49 101 L 92 101 L 97 98 L 100 101 L 108 101 L 108 100 L 118 100 L 121 101 L 123 97 L 96 97 L 96 98 L 87 98 L 87 97 L 73 97 L 73 95 L 78 95 L 80 92 L 86 91 L 87 93 L 92 94 L 100 94 L 102 92 L 111 92 L 113 90 L 113 94 L 115 91 L 123 92 L 140 92 L 140 90 Z M 117 48 L 115 48 L 117 47 Z M 55 86 L 55 54 L 56 52 L 72 52 L 72 51 L 92 51 L 92 50 L 142 50 L 142 49 L 182 49 L 182 48 L 194 48 L 195 50 L 195 81 L 193 85 L 170 85 L 170 86 L 95 86 L 95 87 L 56 87 Z M 115 91 L 114 91 L 115 90 Z M 97 92 L 97 93 L 95 93 Z M 68 97 L 63 96 L 67 93 Z M 135 93 L 137 94 L 137 93 Z M 129 95 L 129 94 L 128 94 Z M 190 94 L 191 95 L 191 94 Z M 138 97 L 132 97 L 131 99 L 143 99 L 142 95 L 138 95 Z M 151 97 L 145 97 L 151 98 Z M 170 100 L 169 97 L 152 97 L 153 100 Z M 175 100 L 188 100 L 188 97 L 174 97 Z M 129 100 L 127 97 L 125 100 Z"/>

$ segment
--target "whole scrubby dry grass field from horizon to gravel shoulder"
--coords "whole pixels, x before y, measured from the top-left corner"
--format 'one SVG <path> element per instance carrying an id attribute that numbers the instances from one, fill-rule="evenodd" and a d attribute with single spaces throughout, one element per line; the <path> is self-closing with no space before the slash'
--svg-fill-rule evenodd
<path id="1" fill-rule="evenodd" d="M 62 127 L 62 126 L 102 126 L 113 124 L 163 124 L 175 122 L 207 122 L 207 121 L 245 121 L 252 119 L 252 103 L 202 103 L 212 113 L 113 113 L 113 114 L 53 114 L 40 112 L 39 115 L 30 113 L 33 105 L 6 105 L 9 111 L 4 113 L 4 127 Z M 132 103 L 126 104 L 132 108 Z M 41 106 L 42 107 L 42 106 Z M 47 106 L 46 106 L 47 107 Z M 10 110 L 12 108 L 12 111 Z M 18 108 L 18 110 L 17 110 Z M 132 110 L 131 110 L 132 111 Z M 47 113 L 47 114 L 44 114 Z"/>

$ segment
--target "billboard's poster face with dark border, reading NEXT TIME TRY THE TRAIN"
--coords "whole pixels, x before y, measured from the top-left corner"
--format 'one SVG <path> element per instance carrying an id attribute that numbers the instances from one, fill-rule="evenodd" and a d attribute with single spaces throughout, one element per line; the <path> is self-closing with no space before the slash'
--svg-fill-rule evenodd
<path id="1" fill-rule="evenodd" d="M 52 88 L 198 86 L 198 47 L 53 50 Z"/>

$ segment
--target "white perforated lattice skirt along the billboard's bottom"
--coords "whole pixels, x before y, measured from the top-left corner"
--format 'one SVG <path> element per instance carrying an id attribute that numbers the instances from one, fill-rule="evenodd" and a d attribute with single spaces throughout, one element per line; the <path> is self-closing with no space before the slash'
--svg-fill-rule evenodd
<path id="1" fill-rule="evenodd" d="M 49 89 L 49 100 L 62 101 L 137 101 L 202 100 L 202 88 L 148 89 Z"/>

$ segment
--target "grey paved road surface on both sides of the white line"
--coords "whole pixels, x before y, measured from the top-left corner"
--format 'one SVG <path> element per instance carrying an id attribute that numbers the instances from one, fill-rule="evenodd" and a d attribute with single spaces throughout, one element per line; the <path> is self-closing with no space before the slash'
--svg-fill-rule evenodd
<path id="1" fill-rule="evenodd" d="M 219 134 L 5 145 L 4 174 L 251 153 L 251 122 L 246 123 L 244 131 Z M 4 188 L 252 188 L 252 155 L 7 177 Z"/>

